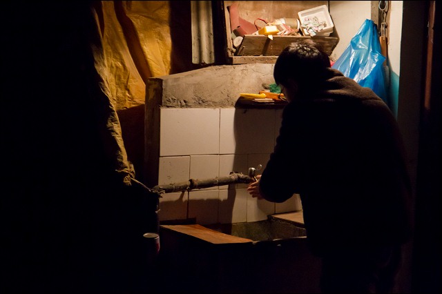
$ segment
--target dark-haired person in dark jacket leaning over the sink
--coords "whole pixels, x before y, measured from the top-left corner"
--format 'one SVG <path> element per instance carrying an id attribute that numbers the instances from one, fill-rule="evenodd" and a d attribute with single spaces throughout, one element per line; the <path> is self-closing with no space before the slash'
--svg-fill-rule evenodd
<path id="1" fill-rule="evenodd" d="M 392 293 L 413 230 L 394 115 L 371 89 L 331 68 L 310 39 L 282 51 L 273 77 L 289 104 L 248 193 L 278 203 L 300 195 L 323 293 Z"/>

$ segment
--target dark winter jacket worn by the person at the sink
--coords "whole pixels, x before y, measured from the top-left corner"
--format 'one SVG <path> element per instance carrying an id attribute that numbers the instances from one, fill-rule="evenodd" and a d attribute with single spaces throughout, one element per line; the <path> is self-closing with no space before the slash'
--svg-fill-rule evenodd
<path id="1" fill-rule="evenodd" d="M 372 90 L 332 68 L 285 106 L 260 191 L 271 202 L 300 194 L 318 254 L 410 238 L 411 186 L 396 119 Z"/>

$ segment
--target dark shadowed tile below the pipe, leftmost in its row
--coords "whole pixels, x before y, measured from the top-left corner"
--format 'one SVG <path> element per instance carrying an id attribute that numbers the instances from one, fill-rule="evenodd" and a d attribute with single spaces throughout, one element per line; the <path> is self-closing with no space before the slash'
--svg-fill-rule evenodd
<path id="1" fill-rule="evenodd" d="M 164 193 L 160 198 L 160 222 L 166 220 L 186 219 L 189 192 Z"/>

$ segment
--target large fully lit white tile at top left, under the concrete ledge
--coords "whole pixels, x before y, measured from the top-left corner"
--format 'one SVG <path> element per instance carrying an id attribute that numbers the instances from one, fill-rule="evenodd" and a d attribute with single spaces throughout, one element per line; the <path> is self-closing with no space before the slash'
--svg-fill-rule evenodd
<path id="1" fill-rule="evenodd" d="M 220 108 L 161 108 L 160 156 L 220 153 Z"/>

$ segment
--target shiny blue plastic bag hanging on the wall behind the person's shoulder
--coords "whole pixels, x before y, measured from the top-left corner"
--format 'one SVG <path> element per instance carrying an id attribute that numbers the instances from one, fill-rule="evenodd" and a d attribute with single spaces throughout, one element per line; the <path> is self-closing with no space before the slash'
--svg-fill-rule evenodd
<path id="1" fill-rule="evenodd" d="M 384 61 L 376 24 L 371 19 L 365 19 L 332 68 L 340 70 L 345 77 L 354 79 L 361 86 L 371 88 L 387 103 Z"/>

